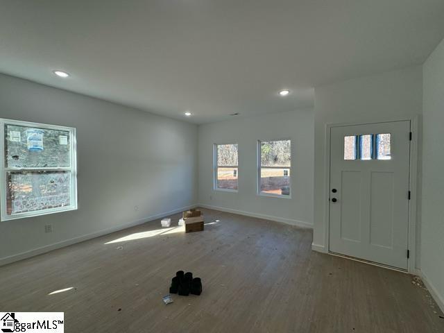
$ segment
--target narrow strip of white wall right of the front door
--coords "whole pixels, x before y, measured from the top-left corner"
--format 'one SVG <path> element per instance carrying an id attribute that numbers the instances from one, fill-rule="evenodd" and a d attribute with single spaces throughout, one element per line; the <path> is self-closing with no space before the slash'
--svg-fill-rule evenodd
<path id="1" fill-rule="evenodd" d="M 423 74 L 421 271 L 444 311 L 444 41 Z"/>

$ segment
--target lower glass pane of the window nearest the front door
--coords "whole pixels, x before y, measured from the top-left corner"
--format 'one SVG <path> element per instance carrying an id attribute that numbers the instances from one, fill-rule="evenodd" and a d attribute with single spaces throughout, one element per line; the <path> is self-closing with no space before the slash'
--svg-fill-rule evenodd
<path id="1" fill-rule="evenodd" d="M 290 195 L 290 169 L 262 168 L 260 190 L 263 193 Z"/>

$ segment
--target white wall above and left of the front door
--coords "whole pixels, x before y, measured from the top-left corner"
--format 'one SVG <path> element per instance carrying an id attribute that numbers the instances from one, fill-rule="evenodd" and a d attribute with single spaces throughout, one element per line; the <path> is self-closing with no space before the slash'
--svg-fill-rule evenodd
<path id="1" fill-rule="evenodd" d="M 422 113 L 422 68 L 317 87 L 314 102 L 314 249 L 325 244 L 325 125 L 412 119 Z"/>

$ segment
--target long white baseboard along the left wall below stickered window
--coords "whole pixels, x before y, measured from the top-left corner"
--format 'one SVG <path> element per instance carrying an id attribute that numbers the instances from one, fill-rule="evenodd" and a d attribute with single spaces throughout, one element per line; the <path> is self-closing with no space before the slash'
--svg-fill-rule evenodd
<path id="1" fill-rule="evenodd" d="M 29 257 L 34 257 L 35 255 L 41 255 L 42 253 L 46 253 L 52 250 L 56 250 L 58 248 L 63 248 L 65 246 L 69 246 L 72 244 L 76 244 L 76 243 L 80 243 L 81 241 L 87 241 L 88 239 L 93 239 L 96 237 L 101 237 L 104 234 L 111 234 L 112 232 L 116 232 L 119 230 L 123 230 L 123 229 L 128 229 L 131 227 L 134 227 L 135 225 L 139 225 L 139 224 L 143 224 L 149 221 L 153 221 L 153 220 L 157 220 L 157 219 L 161 219 L 165 216 L 169 216 L 169 215 L 173 215 L 173 214 L 177 214 L 180 212 L 183 212 L 184 210 L 189 210 L 190 208 L 194 208 L 197 207 L 197 205 L 189 205 L 186 207 L 180 207 L 176 210 L 171 210 L 169 212 L 164 212 L 161 214 L 156 214 L 153 216 L 148 216 L 144 219 L 140 219 L 137 221 L 133 221 L 130 223 L 126 223 L 126 224 L 122 224 L 122 225 L 117 225 L 116 227 L 112 227 L 112 228 L 108 228 L 105 230 L 101 230 L 98 232 L 93 232 L 92 234 L 84 234 L 83 236 L 79 236 L 79 237 L 74 237 L 71 239 L 67 239 L 65 241 L 60 241 L 58 243 L 55 244 L 49 244 L 46 246 L 42 246 L 41 248 L 34 248 L 33 250 L 28 250 L 24 253 L 18 253 L 17 255 L 10 255 L 9 257 L 3 257 L 0 258 L 0 266 L 6 265 L 6 264 L 10 264 L 11 262 L 17 262 L 19 260 L 22 259 L 26 259 Z"/>

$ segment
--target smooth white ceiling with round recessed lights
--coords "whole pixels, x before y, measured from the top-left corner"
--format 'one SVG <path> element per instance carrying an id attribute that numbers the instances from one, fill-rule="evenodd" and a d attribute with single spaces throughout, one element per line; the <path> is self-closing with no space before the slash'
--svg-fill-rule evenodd
<path id="1" fill-rule="evenodd" d="M 0 4 L 0 72 L 195 123 L 311 106 L 313 87 L 420 64 L 444 37 L 443 0 Z"/>

